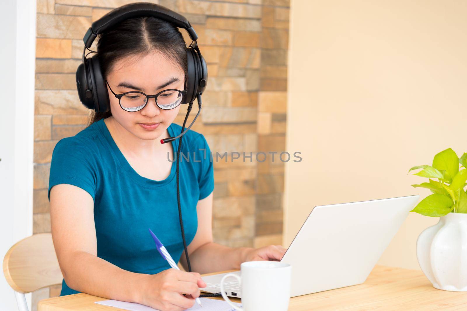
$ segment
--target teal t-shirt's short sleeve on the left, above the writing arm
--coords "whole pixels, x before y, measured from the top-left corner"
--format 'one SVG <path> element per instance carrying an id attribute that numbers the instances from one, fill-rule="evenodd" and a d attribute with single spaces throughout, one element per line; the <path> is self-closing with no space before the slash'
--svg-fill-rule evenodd
<path id="1" fill-rule="evenodd" d="M 61 139 L 55 145 L 50 162 L 49 191 L 60 183 L 67 183 L 87 191 L 94 200 L 97 175 L 93 165 L 90 143 L 75 136 Z"/>

